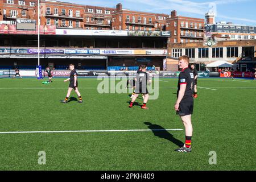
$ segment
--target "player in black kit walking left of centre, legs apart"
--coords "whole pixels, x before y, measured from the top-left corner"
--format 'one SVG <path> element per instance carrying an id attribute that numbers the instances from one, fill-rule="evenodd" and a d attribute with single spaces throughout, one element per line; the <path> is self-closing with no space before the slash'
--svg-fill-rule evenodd
<path id="1" fill-rule="evenodd" d="M 70 76 L 67 80 L 64 80 L 64 82 L 69 81 L 68 93 L 67 93 L 67 96 L 65 97 L 65 99 L 61 102 L 62 103 L 67 103 L 68 98 L 69 98 L 72 90 L 74 89 L 77 96 L 79 97 L 79 102 L 82 103 L 82 97 L 81 97 L 81 94 L 80 94 L 80 92 L 77 88 L 78 81 L 77 81 L 77 72 L 75 70 L 75 65 L 74 64 L 69 64 L 69 69 L 71 70 Z"/>

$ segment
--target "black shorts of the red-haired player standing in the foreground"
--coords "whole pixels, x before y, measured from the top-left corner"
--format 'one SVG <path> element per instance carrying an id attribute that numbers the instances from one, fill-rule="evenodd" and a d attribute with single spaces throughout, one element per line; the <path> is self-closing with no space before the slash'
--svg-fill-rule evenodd
<path id="1" fill-rule="evenodd" d="M 180 116 L 193 114 L 194 100 L 193 97 L 184 96 L 180 102 L 179 111 L 176 114 Z"/>

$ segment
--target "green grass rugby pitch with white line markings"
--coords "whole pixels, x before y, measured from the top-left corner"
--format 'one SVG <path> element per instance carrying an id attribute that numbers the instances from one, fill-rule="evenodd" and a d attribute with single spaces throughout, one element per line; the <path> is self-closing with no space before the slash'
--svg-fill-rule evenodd
<path id="1" fill-rule="evenodd" d="M 6 131 L 184 129 L 176 115 L 177 79 L 160 79 L 148 110 L 129 109 L 128 94 L 100 94 L 96 78 L 79 78 L 84 103 L 61 104 L 68 83 L 0 79 L 1 170 L 255 170 L 256 81 L 200 79 L 192 152 L 174 152 L 183 131 L 11 133 Z M 72 97 L 76 97 L 75 92 Z M 141 99 L 138 99 L 142 103 Z M 152 125 L 147 125 L 148 123 Z M 46 152 L 46 165 L 38 152 Z M 217 164 L 209 164 L 216 151 Z"/>

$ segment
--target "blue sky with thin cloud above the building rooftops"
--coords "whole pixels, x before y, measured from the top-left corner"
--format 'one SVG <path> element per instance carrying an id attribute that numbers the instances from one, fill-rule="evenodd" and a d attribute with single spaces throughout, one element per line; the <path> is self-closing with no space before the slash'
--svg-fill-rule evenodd
<path id="1" fill-rule="evenodd" d="M 216 22 L 226 21 L 237 24 L 256 26 L 255 0 L 60 0 L 63 2 L 78 3 L 80 5 L 93 5 L 115 7 L 122 3 L 123 9 L 146 11 L 152 13 L 170 14 L 177 10 L 181 16 L 204 18 L 209 9 L 216 12 Z"/>

